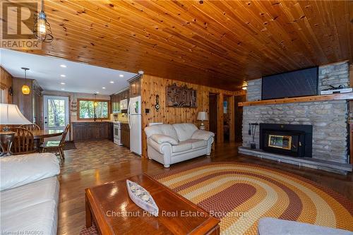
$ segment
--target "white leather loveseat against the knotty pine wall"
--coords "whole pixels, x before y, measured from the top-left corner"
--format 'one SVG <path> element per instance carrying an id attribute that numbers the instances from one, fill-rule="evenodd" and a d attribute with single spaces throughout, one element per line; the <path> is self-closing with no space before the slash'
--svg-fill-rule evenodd
<path id="1" fill-rule="evenodd" d="M 193 123 L 157 124 L 145 128 L 148 158 L 164 167 L 202 155 L 210 155 L 215 134 Z"/>

